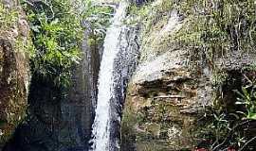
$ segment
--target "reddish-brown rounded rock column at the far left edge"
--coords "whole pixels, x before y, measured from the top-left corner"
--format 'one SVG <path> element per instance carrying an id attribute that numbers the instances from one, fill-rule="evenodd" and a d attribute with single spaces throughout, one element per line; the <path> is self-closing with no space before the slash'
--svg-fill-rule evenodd
<path id="1" fill-rule="evenodd" d="M 2 4 L 7 15 L 15 11 L 17 16 L 12 26 L 0 27 L 0 150 L 25 116 L 30 78 L 25 48 L 28 42 L 26 17 L 14 1 L 0 1 Z"/>

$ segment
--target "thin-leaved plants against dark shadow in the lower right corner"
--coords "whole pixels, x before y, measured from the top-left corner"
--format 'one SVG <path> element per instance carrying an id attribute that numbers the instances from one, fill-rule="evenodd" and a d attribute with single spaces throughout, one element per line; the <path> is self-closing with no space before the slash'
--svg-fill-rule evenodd
<path id="1" fill-rule="evenodd" d="M 210 150 L 223 150 L 230 146 L 240 150 L 255 149 L 255 73 L 241 72 L 241 81 L 231 79 L 234 77 L 228 73 L 217 74 L 221 79 L 220 83 L 214 83 L 218 87 L 217 97 L 213 108 L 206 114 L 204 125 L 200 126 L 203 128 L 197 133 Z"/>

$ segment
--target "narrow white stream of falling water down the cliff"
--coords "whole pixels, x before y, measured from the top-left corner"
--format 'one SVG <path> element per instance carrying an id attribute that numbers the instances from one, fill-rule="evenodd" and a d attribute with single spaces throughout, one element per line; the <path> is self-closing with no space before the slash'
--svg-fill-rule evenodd
<path id="1" fill-rule="evenodd" d="M 119 35 L 122 29 L 122 19 L 125 17 L 127 4 L 120 2 L 119 8 L 109 27 L 104 41 L 104 52 L 101 60 L 99 76 L 98 105 L 93 124 L 93 151 L 111 151 L 110 146 L 110 100 L 114 95 L 113 71 L 114 61 L 119 53 Z"/>

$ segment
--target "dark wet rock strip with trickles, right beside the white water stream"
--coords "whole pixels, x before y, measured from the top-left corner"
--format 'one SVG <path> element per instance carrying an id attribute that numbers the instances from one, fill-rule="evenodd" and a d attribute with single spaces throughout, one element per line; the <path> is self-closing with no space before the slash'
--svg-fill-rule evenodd
<path id="1" fill-rule="evenodd" d="M 123 26 L 119 36 L 119 53 L 114 60 L 114 96 L 110 102 L 110 146 L 111 150 L 119 151 L 120 117 L 124 106 L 128 82 L 137 67 L 139 46 L 137 35 L 139 27 Z"/>

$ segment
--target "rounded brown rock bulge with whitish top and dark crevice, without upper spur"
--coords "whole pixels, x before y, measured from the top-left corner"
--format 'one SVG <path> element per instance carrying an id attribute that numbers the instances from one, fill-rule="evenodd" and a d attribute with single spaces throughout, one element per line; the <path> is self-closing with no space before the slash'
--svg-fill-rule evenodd
<path id="1" fill-rule="evenodd" d="M 203 117 L 210 102 L 206 94 L 211 89 L 207 90 L 208 78 L 193 76 L 184 66 L 176 64 L 182 61 L 179 53 L 163 54 L 138 68 L 123 112 L 123 150 L 128 151 L 133 145 L 134 150 L 179 150 L 192 148 L 196 142 L 197 119 Z M 159 63 L 157 66 L 149 65 L 155 61 Z M 143 76 L 138 77 L 139 74 Z"/>

